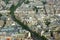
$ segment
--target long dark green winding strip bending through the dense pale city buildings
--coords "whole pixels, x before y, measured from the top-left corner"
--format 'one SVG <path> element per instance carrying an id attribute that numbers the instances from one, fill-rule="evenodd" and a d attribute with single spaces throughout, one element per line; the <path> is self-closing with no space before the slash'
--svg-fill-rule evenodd
<path id="1" fill-rule="evenodd" d="M 15 18 L 14 11 L 16 10 L 16 8 L 18 8 L 19 6 L 21 6 L 21 4 L 23 2 L 25 2 L 25 0 L 22 0 L 21 3 L 20 3 L 20 1 L 18 2 L 18 4 L 16 6 L 12 5 L 11 8 L 10 8 L 10 15 L 11 15 L 11 18 L 13 19 L 13 21 L 15 21 L 16 23 L 18 23 L 19 25 L 21 25 L 21 27 L 23 29 L 29 31 L 32 34 L 32 37 L 36 38 L 37 40 L 47 40 L 47 38 L 45 38 L 44 36 L 40 36 L 36 32 L 33 32 L 32 30 L 29 29 L 29 27 L 27 25 L 24 25 L 24 23 L 22 23 L 21 21 L 19 21 L 18 19 Z M 29 3 L 29 1 L 26 1 L 26 3 Z"/>

